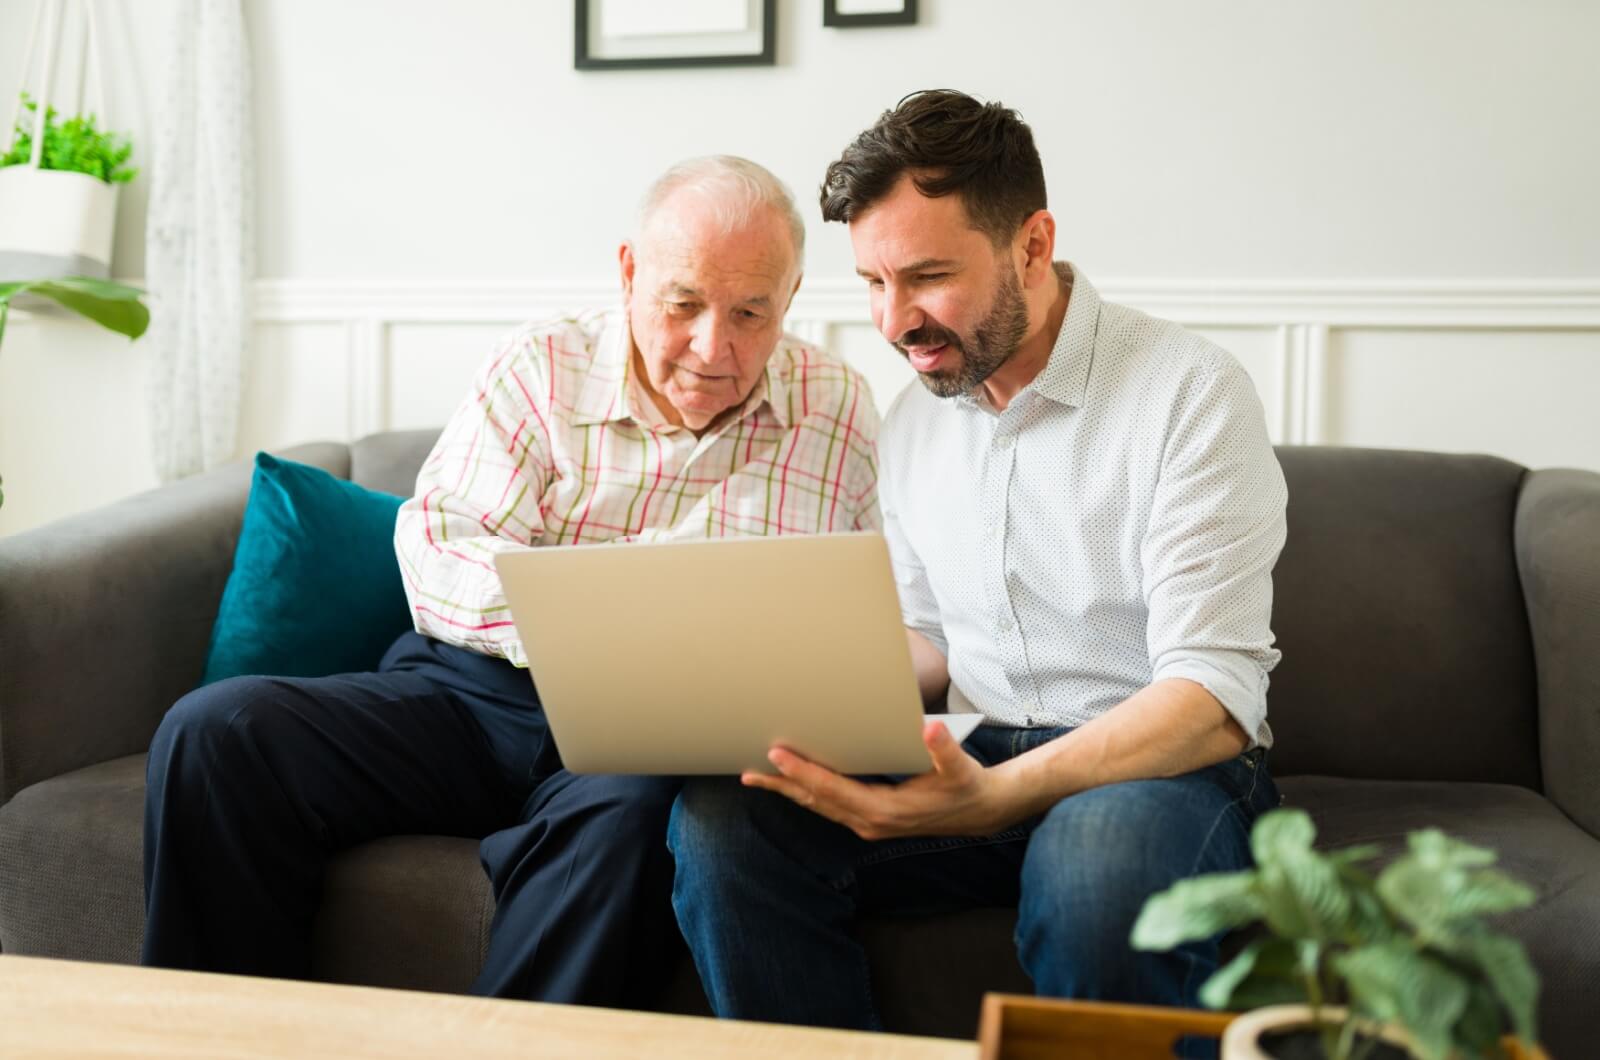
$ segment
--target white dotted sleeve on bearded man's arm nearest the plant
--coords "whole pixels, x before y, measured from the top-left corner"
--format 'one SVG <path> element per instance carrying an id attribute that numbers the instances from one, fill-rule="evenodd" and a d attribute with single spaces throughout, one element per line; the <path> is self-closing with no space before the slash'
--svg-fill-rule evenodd
<path id="1" fill-rule="evenodd" d="M 1230 359 L 1186 376 L 1141 546 L 1152 682 L 1205 687 L 1261 743 L 1272 567 L 1288 490 L 1250 376 Z"/>

